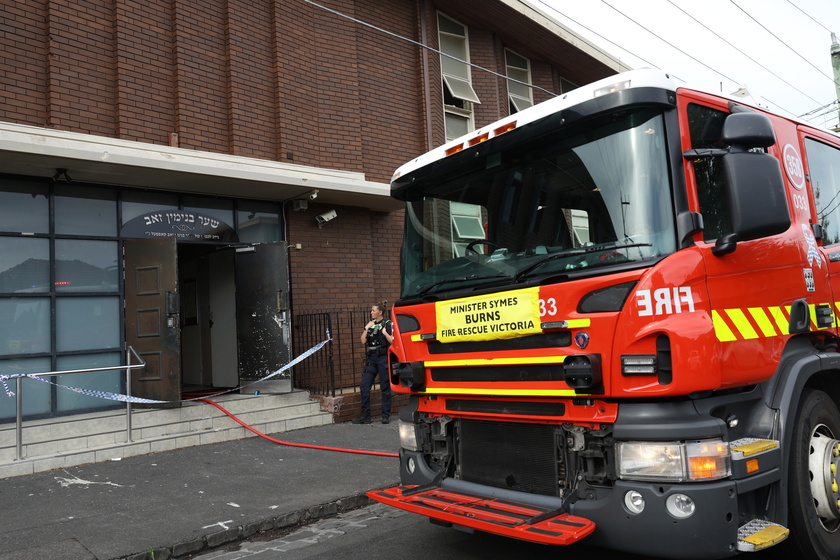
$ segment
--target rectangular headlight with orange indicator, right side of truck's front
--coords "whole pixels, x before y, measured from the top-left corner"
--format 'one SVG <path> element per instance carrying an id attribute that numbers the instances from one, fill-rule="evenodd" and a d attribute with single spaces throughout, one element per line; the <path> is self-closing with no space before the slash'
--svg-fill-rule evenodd
<path id="1" fill-rule="evenodd" d="M 691 442 L 625 442 L 617 446 L 624 480 L 719 480 L 731 474 L 729 446 L 720 439 Z"/>

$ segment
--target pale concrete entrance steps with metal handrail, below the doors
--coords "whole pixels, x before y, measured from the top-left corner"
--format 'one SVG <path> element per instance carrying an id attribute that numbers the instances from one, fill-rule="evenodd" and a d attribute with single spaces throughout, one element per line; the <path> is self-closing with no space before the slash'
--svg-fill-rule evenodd
<path id="1" fill-rule="evenodd" d="M 224 395 L 212 400 L 264 434 L 333 422 L 332 414 L 322 412 L 306 391 Z M 20 460 L 15 458 L 15 425 L 4 424 L 0 427 L 0 478 L 256 437 L 203 402 L 185 402 L 172 409 L 132 409 L 131 423 L 131 441 L 127 441 L 124 410 L 27 421 Z"/>

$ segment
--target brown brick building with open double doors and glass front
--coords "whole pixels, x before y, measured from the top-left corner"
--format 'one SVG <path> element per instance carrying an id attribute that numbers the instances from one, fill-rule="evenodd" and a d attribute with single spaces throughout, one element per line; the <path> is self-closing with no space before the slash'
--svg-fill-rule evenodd
<path id="1" fill-rule="evenodd" d="M 522 0 L 0 4 L 0 375 L 132 346 L 160 400 L 259 379 L 308 347 L 296 322 L 361 310 L 330 317 L 354 386 L 365 312 L 399 295 L 393 170 L 626 69 Z M 102 403 L 45 385 L 24 413 Z"/>

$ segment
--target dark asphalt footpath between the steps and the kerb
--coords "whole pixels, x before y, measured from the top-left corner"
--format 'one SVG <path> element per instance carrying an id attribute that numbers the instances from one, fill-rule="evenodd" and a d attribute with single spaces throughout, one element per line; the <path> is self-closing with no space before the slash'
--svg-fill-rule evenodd
<path id="1" fill-rule="evenodd" d="M 273 434 L 396 452 L 397 423 Z M 394 486 L 392 457 L 259 437 L 0 480 L 0 560 L 167 560 L 370 503 Z"/>

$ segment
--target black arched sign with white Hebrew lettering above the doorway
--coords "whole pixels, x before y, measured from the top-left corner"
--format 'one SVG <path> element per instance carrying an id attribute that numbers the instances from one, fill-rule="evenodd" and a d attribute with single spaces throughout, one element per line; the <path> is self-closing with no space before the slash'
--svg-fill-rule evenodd
<path id="1" fill-rule="evenodd" d="M 188 210 L 148 212 L 126 222 L 120 234 L 134 238 L 174 237 L 178 241 L 239 241 L 230 224 Z"/>

